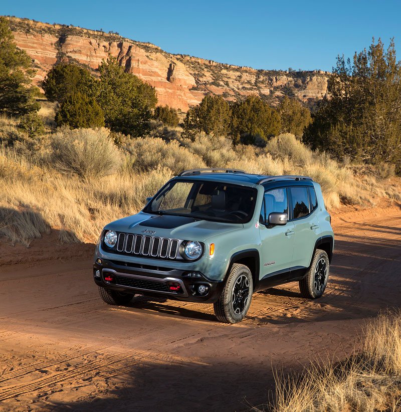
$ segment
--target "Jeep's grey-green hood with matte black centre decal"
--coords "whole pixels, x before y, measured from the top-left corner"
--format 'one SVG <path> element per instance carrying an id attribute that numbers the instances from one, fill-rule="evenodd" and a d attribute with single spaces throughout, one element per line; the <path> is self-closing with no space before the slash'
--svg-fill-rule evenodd
<path id="1" fill-rule="evenodd" d="M 150 215 L 144 212 L 112 222 L 105 227 L 106 230 L 117 232 L 199 242 L 242 228 L 242 224 L 211 222 L 182 216 Z"/>

